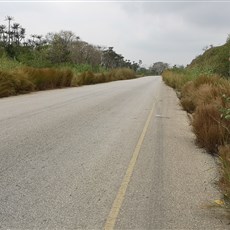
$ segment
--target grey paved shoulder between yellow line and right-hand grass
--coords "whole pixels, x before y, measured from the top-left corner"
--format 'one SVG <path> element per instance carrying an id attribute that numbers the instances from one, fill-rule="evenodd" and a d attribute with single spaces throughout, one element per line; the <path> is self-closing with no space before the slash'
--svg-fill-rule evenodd
<path id="1" fill-rule="evenodd" d="M 195 145 L 176 93 L 162 82 L 152 124 L 116 229 L 229 229 L 219 199 L 215 159 Z"/>

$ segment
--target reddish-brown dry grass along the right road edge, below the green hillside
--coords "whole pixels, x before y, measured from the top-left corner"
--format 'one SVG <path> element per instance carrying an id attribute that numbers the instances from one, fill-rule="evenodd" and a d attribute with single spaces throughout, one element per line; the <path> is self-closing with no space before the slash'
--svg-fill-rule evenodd
<path id="1" fill-rule="evenodd" d="M 188 77 L 173 71 L 165 72 L 163 80 L 180 91 L 180 102 L 191 115 L 197 144 L 208 153 L 219 155 L 219 188 L 224 207 L 230 210 L 230 81 L 218 75 L 197 73 Z"/>

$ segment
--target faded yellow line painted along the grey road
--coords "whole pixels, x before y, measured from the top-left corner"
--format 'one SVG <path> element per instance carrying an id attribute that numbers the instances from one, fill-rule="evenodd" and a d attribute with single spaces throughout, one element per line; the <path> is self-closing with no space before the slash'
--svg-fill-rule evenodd
<path id="1" fill-rule="evenodd" d="M 139 140 L 138 140 L 137 145 L 136 145 L 136 147 L 134 149 L 132 158 L 131 158 L 131 160 L 129 162 L 127 171 L 125 173 L 125 176 L 123 178 L 121 186 L 120 186 L 120 188 L 118 190 L 117 196 L 116 196 L 116 198 L 115 198 L 115 200 L 113 202 L 113 206 L 112 206 L 112 208 L 110 210 L 110 213 L 109 213 L 109 215 L 108 215 L 108 217 L 106 219 L 106 223 L 105 223 L 105 227 L 104 227 L 105 230 L 112 230 L 114 228 L 115 223 L 116 223 L 116 219 L 117 219 L 117 216 L 118 216 L 118 214 L 120 212 L 123 200 L 125 198 L 125 193 L 126 193 L 129 181 L 131 179 L 134 166 L 136 164 L 138 155 L 140 153 L 141 146 L 143 144 L 147 129 L 149 127 L 149 124 L 150 124 L 150 121 L 151 121 L 151 118 L 152 118 L 152 115 L 153 115 L 154 107 L 155 107 L 155 102 L 152 105 L 152 109 L 151 109 L 151 111 L 150 111 L 150 113 L 148 115 L 148 118 L 147 118 L 146 122 L 145 122 L 143 131 L 142 131 L 142 133 L 141 133 L 141 135 L 139 137 Z"/>

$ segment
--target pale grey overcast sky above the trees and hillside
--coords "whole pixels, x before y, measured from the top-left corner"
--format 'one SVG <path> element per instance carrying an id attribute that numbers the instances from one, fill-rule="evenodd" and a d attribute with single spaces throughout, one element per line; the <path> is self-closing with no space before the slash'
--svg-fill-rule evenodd
<path id="1" fill-rule="evenodd" d="M 94 45 L 113 46 L 126 59 L 189 64 L 207 45 L 230 34 L 230 1 L 1 1 L 5 17 L 26 34 L 71 30 Z"/>

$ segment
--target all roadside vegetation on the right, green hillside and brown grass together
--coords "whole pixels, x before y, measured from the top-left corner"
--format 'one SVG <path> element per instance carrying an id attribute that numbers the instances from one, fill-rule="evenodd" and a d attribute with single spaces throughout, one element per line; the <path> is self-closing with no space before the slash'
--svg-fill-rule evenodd
<path id="1" fill-rule="evenodd" d="M 189 113 L 197 144 L 220 159 L 218 182 L 230 211 L 230 43 L 210 47 L 187 68 L 164 71 L 163 80 L 176 89 L 182 107 Z"/>

